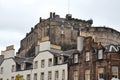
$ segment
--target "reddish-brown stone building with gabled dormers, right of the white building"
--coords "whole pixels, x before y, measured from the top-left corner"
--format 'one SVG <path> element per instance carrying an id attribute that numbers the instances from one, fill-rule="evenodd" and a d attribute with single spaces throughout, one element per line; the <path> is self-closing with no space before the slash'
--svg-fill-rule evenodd
<path id="1" fill-rule="evenodd" d="M 120 79 L 120 46 L 102 46 L 87 37 L 83 50 L 71 55 L 68 72 L 69 80 Z"/>

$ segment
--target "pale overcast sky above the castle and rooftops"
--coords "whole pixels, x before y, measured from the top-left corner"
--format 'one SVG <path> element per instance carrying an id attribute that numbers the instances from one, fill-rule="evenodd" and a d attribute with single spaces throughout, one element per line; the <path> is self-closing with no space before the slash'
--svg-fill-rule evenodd
<path id="1" fill-rule="evenodd" d="M 69 3 L 69 9 L 68 9 Z M 93 19 L 93 26 L 107 26 L 120 32 L 120 0 L 0 0 L 0 51 L 20 40 L 39 18 L 50 12 L 61 17 L 71 13 L 74 18 Z"/>

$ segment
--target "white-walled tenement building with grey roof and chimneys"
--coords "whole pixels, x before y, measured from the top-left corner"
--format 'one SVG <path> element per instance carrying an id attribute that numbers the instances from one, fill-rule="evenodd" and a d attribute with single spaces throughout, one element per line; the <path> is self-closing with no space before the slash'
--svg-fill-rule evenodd
<path id="1" fill-rule="evenodd" d="M 0 56 L 0 80 L 68 80 L 68 52 L 54 49 L 50 41 L 36 46 L 35 57 L 18 57 L 13 46 Z M 20 77 L 20 79 L 18 79 Z"/>

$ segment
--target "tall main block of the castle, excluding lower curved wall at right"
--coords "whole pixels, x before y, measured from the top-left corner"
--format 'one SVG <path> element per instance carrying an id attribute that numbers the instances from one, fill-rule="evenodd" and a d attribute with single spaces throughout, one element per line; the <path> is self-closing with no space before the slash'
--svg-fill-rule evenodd
<path id="1" fill-rule="evenodd" d="M 71 14 L 67 14 L 66 18 L 60 18 L 59 15 L 50 13 L 48 19 L 40 18 L 39 23 L 31 28 L 31 31 L 21 40 L 18 55 L 35 56 L 35 46 L 46 36 L 49 37 L 52 44 L 61 46 L 62 50 L 76 48 L 79 30 L 84 27 L 91 27 L 91 25 L 92 20 L 75 19 L 72 18 Z"/>

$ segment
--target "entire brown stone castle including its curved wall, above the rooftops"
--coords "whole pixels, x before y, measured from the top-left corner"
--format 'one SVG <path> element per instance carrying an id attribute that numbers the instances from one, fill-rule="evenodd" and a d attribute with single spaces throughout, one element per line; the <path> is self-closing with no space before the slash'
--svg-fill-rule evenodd
<path id="1" fill-rule="evenodd" d="M 92 20 L 81 20 L 72 18 L 67 14 L 66 18 L 61 18 L 55 13 L 50 13 L 48 19 L 40 18 L 26 37 L 21 40 L 18 51 L 19 56 L 35 56 L 35 46 L 44 37 L 49 37 L 54 45 L 61 46 L 62 50 L 75 49 L 77 47 L 77 36 L 92 36 L 95 42 L 102 45 L 120 44 L 120 33 L 106 27 L 92 27 Z"/>

